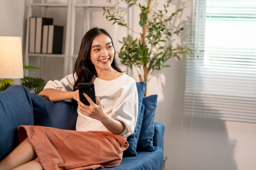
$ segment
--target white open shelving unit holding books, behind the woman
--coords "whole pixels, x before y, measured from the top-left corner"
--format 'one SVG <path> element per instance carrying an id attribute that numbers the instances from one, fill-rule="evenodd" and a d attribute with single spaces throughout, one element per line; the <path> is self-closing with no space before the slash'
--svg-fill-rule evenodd
<path id="1" fill-rule="evenodd" d="M 39 1 L 39 3 L 38 3 Z M 48 0 L 49 1 L 49 0 Z M 28 4 L 28 16 L 27 16 L 27 30 L 26 30 L 26 49 L 25 49 L 25 63 L 27 65 L 30 64 L 31 57 L 37 57 L 40 59 L 40 77 L 46 79 L 46 59 L 51 57 L 58 57 L 63 58 L 64 65 L 63 65 L 63 77 L 67 74 L 73 72 L 73 61 L 76 59 L 77 54 L 75 54 L 75 19 L 76 19 L 76 11 L 78 8 L 82 8 L 83 16 L 82 16 L 82 31 L 83 35 L 87 32 L 87 30 L 91 27 L 91 12 L 95 10 L 102 10 L 103 7 L 108 8 L 111 6 L 104 6 L 99 4 L 92 4 L 90 0 L 87 1 L 76 1 L 76 0 L 66 0 L 64 3 L 48 3 L 47 0 L 27 0 Z M 105 2 L 105 0 L 97 0 Z M 95 1 L 94 1 L 95 2 Z M 41 9 L 41 16 L 46 16 L 48 8 L 66 8 L 66 23 L 64 28 L 65 38 L 64 40 L 64 50 L 63 54 L 61 55 L 53 55 L 53 54 L 38 54 L 38 53 L 28 53 L 28 36 L 29 36 L 29 18 L 33 16 L 33 8 L 40 8 Z M 127 8 L 127 6 L 120 6 L 120 8 Z M 128 18 L 131 18 L 129 8 L 127 8 Z M 102 16 L 103 18 L 103 16 Z M 53 21 L 54 22 L 54 21 Z M 111 23 L 109 23 L 111 25 Z M 117 33 L 118 27 L 117 24 L 114 26 L 114 44 L 117 44 Z M 81 37 L 82 39 L 82 37 Z M 37 59 L 37 60 L 38 60 Z M 28 74 L 28 73 L 26 73 Z"/>

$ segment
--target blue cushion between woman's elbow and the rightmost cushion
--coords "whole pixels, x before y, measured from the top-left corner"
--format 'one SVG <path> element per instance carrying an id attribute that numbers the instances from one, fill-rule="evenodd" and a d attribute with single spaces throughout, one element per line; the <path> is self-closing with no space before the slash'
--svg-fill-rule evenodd
<path id="1" fill-rule="evenodd" d="M 124 156 L 136 156 L 137 152 L 137 142 L 139 140 L 139 133 L 142 128 L 142 120 L 143 120 L 143 113 L 144 108 L 142 108 L 142 99 L 144 96 L 144 91 L 146 88 L 146 82 L 140 81 L 136 83 L 137 85 L 137 91 L 138 91 L 138 117 L 137 117 L 137 124 L 134 129 L 134 133 L 127 137 L 127 142 L 129 143 L 129 147 L 127 150 L 124 151 Z M 143 111 L 142 111 L 143 110 Z"/>

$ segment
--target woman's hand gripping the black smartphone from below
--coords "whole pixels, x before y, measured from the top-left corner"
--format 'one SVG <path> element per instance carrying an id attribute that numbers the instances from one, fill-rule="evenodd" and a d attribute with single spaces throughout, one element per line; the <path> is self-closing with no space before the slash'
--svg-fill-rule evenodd
<path id="1" fill-rule="evenodd" d="M 103 120 L 105 118 L 106 114 L 103 111 L 102 105 L 100 103 L 99 98 L 96 97 L 96 103 L 92 101 L 92 99 L 87 95 L 84 94 L 87 101 L 90 103 L 90 106 L 85 105 L 82 103 L 82 101 L 78 101 L 78 108 L 80 110 L 80 113 L 89 116 L 90 118 L 94 118 L 97 120 Z"/>

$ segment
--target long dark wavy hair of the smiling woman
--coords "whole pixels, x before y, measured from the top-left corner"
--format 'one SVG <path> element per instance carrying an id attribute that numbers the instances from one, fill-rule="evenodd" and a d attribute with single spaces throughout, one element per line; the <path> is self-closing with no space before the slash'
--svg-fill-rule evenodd
<path id="1" fill-rule="evenodd" d="M 105 34 L 107 35 L 113 45 L 113 40 L 109 33 L 102 28 L 92 28 L 85 33 L 82 38 L 80 50 L 78 52 L 78 59 L 75 62 L 73 77 L 77 74 L 78 79 L 76 79 L 75 84 L 73 86 L 74 91 L 77 89 L 79 83 L 92 82 L 95 77 L 97 77 L 97 72 L 95 70 L 94 64 L 90 60 L 90 51 L 92 48 L 92 41 L 97 37 L 97 35 Z M 115 55 L 115 50 L 114 50 Z M 114 57 L 114 56 L 113 56 Z M 114 57 L 115 58 L 115 57 Z M 113 59 L 111 64 L 112 68 L 117 72 L 122 72 L 121 69 L 117 66 L 117 62 Z"/>

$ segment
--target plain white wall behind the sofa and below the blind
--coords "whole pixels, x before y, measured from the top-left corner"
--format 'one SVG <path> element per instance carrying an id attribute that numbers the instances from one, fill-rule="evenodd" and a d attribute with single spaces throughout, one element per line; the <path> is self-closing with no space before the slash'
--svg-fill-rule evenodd
<path id="1" fill-rule="evenodd" d="M 190 1 L 182 0 L 179 3 L 183 3 L 186 8 L 182 18 L 176 20 L 177 23 L 187 20 L 190 15 Z M 25 37 L 23 28 L 26 28 L 26 24 L 23 25 L 23 14 L 24 1 L 1 0 L 0 35 Z M 166 126 L 166 169 L 255 169 L 256 124 L 184 117 L 186 61 L 171 60 L 170 64 L 171 67 L 163 69 L 148 84 L 149 95 L 159 94 L 155 120 Z M 53 69 L 58 72 L 59 68 Z"/>

